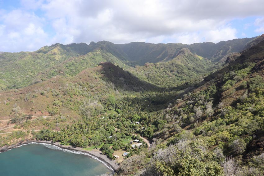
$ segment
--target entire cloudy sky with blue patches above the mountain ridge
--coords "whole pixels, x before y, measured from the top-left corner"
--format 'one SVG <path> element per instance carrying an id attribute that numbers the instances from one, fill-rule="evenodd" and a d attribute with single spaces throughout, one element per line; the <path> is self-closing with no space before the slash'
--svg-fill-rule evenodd
<path id="1" fill-rule="evenodd" d="M 251 38 L 264 33 L 263 9 L 263 0 L 0 0 L 0 51 Z"/>

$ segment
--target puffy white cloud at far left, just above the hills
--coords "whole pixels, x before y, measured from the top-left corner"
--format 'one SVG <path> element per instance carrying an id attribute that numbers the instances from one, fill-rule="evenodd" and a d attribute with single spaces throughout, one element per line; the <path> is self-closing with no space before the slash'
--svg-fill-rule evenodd
<path id="1" fill-rule="evenodd" d="M 47 44 L 48 34 L 43 30 L 45 20 L 34 13 L 13 10 L 1 16 L 0 51 L 33 51 Z"/>

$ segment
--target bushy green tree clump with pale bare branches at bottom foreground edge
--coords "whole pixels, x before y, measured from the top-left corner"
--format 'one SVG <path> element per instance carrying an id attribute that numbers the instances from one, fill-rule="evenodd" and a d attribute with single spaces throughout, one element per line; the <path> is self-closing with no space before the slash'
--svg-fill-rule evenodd
<path id="1" fill-rule="evenodd" d="M 159 149 L 141 175 L 222 176 L 223 169 L 202 140 L 180 141 Z"/>

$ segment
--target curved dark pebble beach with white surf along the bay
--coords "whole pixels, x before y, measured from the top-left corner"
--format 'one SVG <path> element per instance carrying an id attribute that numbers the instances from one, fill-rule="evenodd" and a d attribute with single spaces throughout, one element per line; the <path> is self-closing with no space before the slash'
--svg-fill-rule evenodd
<path id="1" fill-rule="evenodd" d="M 51 141 L 37 141 L 37 140 L 27 140 L 24 142 L 19 142 L 17 144 L 11 145 L 11 146 L 4 146 L 4 147 L 0 147 L 0 153 L 4 152 L 4 151 L 8 151 L 11 150 L 12 148 L 16 148 L 16 147 L 20 147 L 24 144 L 29 144 L 29 143 L 43 143 L 43 144 L 50 144 L 50 145 L 54 145 L 57 146 L 61 149 L 66 149 L 66 150 L 70 150 L 70 151 L 81 151 L 83 153 L 87 153 L 90 155 L 90 157 L 95 157 L 97 158 L 100 162 L 102 162 L 103 164 L 107 165 L 109 168 L 111 168 L 114 172 L 116 172 L 119 168 L 119 165 L 116 164 L 116 162 L 114 160 L 110 160 L 109 158 L 107 158 L 107 156 L 103 155 L 102 152 L 96 152 L 96 151 L 86 151 L 82 148 L 79 147 L 72 147 L 72 146 L 62 146 L 60 143 L 55 142 L 52 143 Z"/>

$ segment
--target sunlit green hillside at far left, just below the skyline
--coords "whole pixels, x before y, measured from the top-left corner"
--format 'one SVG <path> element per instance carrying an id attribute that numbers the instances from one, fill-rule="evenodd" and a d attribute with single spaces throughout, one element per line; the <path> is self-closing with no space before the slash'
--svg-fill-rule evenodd
<path id="1" fill-rule="evenodd" d="M 80 48 L 75 45 L 80 46 Z M 38 83 L 40 80 L 34 79 L 34 77 L 39 72 L 58 65 L 73 56 L 87 53 L 82 50 L 83 45 L 86 44 L 66 46 L 55 44 L 50 47 L 42 47 L 36 52 L 2 53 L 0 55 L 3 63 L 0 67 L 0 88 L 21 88 L 32 83 Z"/>

